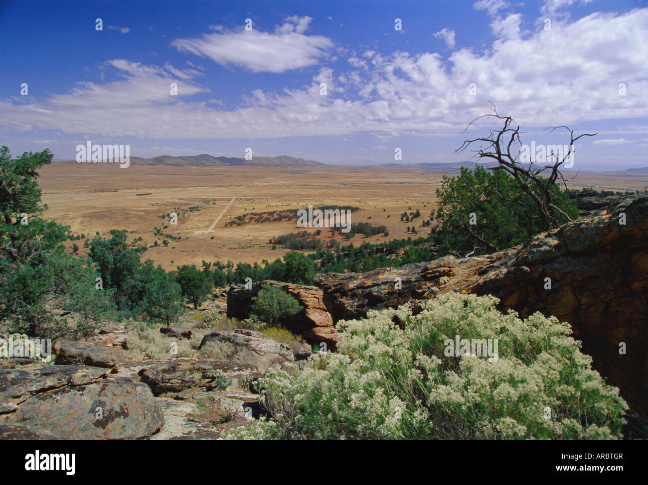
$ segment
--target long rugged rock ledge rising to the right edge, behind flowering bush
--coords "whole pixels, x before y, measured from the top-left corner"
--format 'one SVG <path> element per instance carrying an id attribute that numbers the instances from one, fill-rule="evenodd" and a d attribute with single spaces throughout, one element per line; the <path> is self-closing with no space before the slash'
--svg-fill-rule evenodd
<path id="1" fill-rule="evenodd" d="M 594 368 L 648 416 L 648 197 L 625 199 L 501 253 L 314 281 L 336 322 L 446 291 L 494 295 L 500 310 L 521 317 L 553 315 L 572 325 Z"/>

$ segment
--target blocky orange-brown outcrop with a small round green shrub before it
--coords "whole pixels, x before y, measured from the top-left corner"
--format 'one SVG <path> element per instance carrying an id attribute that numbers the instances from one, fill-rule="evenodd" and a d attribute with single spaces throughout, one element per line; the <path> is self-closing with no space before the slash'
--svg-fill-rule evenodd
<path id="1" fill-rule="evenodd" d="M 244 320 L 249 318 L 252 299 L 257 296 L 263 284 L 277 286 L 292 295 L 302 306 L 302 310 L 291 317 L 279 321 L 281 326 L 301 335 L 310 344 L 326 343 L 329 350 L 335 350 L 340 339 L 333 320 L 322 300 L 322 291 L 314 286 L 301 286 L 277 281 L 262 281 L 246 289 L 244 285 L 234 285 L 227 291 L 227 317 Z"/>

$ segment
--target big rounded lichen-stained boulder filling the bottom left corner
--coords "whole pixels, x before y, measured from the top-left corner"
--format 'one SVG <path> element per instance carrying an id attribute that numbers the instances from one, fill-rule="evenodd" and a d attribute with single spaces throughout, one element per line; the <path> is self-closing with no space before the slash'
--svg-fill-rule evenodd
<path id="1" fill-rule="evenodd" d="M 164 423 L 145 384 L 106 378 L 105 370 L 93 367 L 2 365 L 0 401 L 14 408 L 0 414 L 1 424 L 64 440 L 148 438 Z"/>

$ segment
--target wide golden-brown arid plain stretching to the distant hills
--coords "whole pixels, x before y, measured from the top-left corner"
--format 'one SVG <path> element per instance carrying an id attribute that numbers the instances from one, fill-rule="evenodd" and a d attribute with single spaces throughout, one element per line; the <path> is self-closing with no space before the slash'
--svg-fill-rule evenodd
<path id="1" fill-rule="evenodd" d="M 581 172 L 566 176 L 570 188 L 625 191 L 644 190 L 648 185 L 645 173 Z M 170 270 L 180 264 L 200 265 L 202 260 L 231 260 L 235 264 L 272 261 L 287 250 L 273 249 L 270 238 L 303 230 L 296 220 L 227 225 L 236 216 L 251 212 L 306 209 L 308 205 L 359 207 L 352 214 L 353 223 L 385 225 L 389 236 L 365 238 L 356 234 L 347 241 L 336 235 L 341 243 L 358 245 L 413 236 L 407 232 L 411 223 L 401 222 L 400 214 L 419 209 L 422 218 L 416 220 L 416 230 L 425 236 L 430 228 L 420 227 L 421 221 L 436 209 L 435 190 L 441 186 L 442 177 L 413 168 L 136 164 L 120 168 L 117 164 L 54 162 L 41 169 L 38 183 L 48 205 L 45 218 L 69 225 L 74 234 L 89 239 L 96 232 L 106 237 L 110 229 L 124 229 L 130 238 L 141 237 L 149 247 L 144 258 Z M 190 207 L 194 208 L 192 212 Z M 170 212 L 178 213 L 177 225 L 170 225 L 163 217 Z M 168 227 L 163 229 L 164 225 Z M 162 234 L 156 234 L 156 227 Z M 87 252 L 82 247 L 85 238 L 77 242 L 80 253 Z M 324 228 L 318 238 L 327 242 L 331 233 Z M 67 245 L 71 247 L 72 242 Z"/>

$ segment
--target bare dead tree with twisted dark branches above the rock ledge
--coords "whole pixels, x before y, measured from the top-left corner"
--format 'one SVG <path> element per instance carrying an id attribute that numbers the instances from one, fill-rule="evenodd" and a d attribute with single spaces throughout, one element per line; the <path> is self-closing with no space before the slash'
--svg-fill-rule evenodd
<path id="1" fill-rule="evenodd" d="M 559 153 L 554 153 L 552 150 L 551 153 L 547 154 L 546 160 L 541 165 L 537 164 L 537 166 L 534 166 L 533 160 L 529 160 L 529 166 L 525 167 L 519 160 L 520 149 L 522 147 L 522 141 L 520 140 L 520 126 L 512 117 L 500 116 L 492 103 L 491 106 L 493 113 L 475 118 L 468 124 L 466 130 L 468 130 L 470 125 L 477 120 L 491 117 L 496 118 L 497 120 L 502 120 L 504 124 L 503 128 L 501 130 L 491 130 L 488 137 L 465 140 L 463 144 L 455 150 L 455 153 L 463 152 L 469 148 L 469 146 L 480 143 L 478 150 L 472 150 L 472 152 L 475 152 L 473 157 L 477 157 L 478 159 L 492 159 L 497 162 L 497 166 L 487 167 L 489 170 L 504 170 L 511 175 L 518 186 L 520 186 L 522 192 L 529 196 L 531 201 L 533 201 L 533 204 L 537 207 L 538 213 L 547 225 L 548 229 L 555 229 L 559 226 L 559 213 L 563 214 L 571 221 L 572 219 L 570 216 L 565 214 L 565 212 L 555 205 L 551 188 L 553 188 L 557 181 L 562 183 L 565 189 L 567 188 L 567 184 L 565 183 L 561 172 L 562 164 L 570 159 L 575 141 L 581 137 L 594 137 L 597 133 L 583 133 L 582 135 L 574 137 L 573 130 L 570 130 L 567 126 L 552 126 L 547 128 L 547 130 L 550 130 L 550 133 L 558 128 L 565 128 L 570 132 L 570 144 L 568 150 L 562 153 L 562 157 Z M 484 143 L 486 146 L 483 146 Z M 543 174 L 543 172 L 546 171 L 548 171 L 547 173 L 549 175 L 544 178 L 545 174 Z"/>

